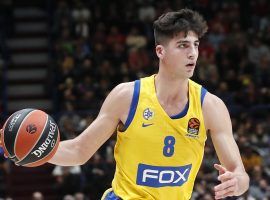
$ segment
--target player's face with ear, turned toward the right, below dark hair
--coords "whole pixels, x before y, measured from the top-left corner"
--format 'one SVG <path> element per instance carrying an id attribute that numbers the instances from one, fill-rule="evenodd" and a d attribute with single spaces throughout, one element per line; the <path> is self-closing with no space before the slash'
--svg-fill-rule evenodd
<path id="1" fill-rule="evenodd" d="M 197 34 L 189 31 L 185 37 L 183 32 L 179 33 L 167 44 L 156 46 L 160 67 L 177 77 L 192 77 L 198 59 L 198 47 Z"/>

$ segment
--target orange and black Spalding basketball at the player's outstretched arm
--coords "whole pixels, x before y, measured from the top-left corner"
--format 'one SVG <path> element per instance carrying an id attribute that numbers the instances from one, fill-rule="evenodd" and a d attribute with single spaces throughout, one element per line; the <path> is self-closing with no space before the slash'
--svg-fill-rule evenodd
<path id="1" fill-rule="evenodd" d="M 7 119 L 1 139 L 6 155 L 16 165 L 36 167 L 46 163 L 55 154 L 60 134 L 50 115 L 27 108 L 13 113 Z"/>

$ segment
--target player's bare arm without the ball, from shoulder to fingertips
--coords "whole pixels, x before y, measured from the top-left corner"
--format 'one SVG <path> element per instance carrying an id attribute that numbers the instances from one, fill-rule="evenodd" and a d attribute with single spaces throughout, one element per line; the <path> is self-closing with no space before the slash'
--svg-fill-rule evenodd
<path id="1" fill-rule="evenodd" d="M 214 166 L 219 171 L 218 180 L 221 181 L 214 188 L 215 199 L 239 196 L 247 191 L 249 176 L 233 138 L 229 112 L 221 99 L 208 92 L 203 103 L 203 115 L 221 163 Z"/>

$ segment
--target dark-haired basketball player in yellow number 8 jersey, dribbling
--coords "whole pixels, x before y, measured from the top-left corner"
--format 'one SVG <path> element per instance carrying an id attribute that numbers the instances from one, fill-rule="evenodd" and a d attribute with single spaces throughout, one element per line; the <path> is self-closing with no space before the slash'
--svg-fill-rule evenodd
<path id="1" fill-rule="evenodd" d="M 189 9 L 154 22 L 159 71 L 116 86 L 95 121 L 77 138 L 60 143 L 50 163 L 82 165 L 117 128 L 116 172 L 103 199 L 191 198 L 206 132 L 221 164 L 215 199 L 243 194 L 249 185 L 221 99 L 193 82 L 205 20 Z"/>

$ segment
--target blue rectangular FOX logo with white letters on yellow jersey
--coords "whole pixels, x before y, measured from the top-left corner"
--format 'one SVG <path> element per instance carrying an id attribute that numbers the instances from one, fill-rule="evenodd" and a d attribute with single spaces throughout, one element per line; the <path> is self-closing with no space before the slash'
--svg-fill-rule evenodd
<path id="1" fill-rule="evenodd" d="M 148 187 L 181 186 L 188 181 L 192 164 L 179 167 L 164 167 L 139 164 L 137 185 Z"/>

